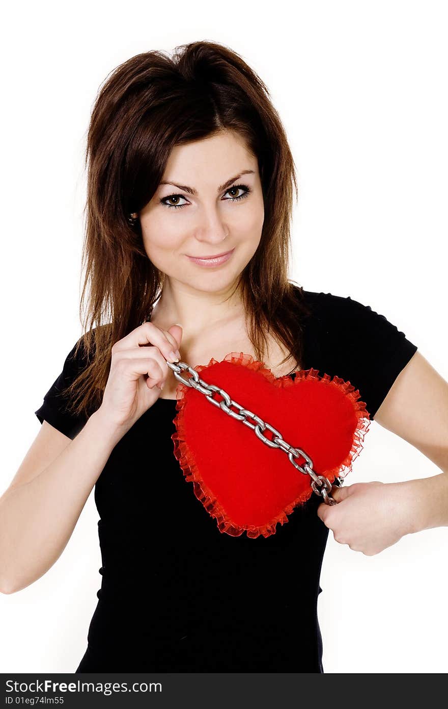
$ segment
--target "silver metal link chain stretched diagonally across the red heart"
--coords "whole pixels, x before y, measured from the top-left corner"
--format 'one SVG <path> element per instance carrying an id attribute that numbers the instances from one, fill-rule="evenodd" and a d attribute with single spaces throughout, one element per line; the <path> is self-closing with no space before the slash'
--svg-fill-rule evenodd
<path id="1" fill-rule="evenodd" d="M 207 384 L 206 381 L 200 379 L 198 372 L 196 372 L 193 367 L 189 367 L 185 362 L 166 362 L 166 364 L 168 364 L 168 367 L 173 370 L 174 376 L 176 376 L 176 379 L 181 381 L 182 384 L 185 384 L 186 386 L 193 386 L 193 389 L 196 389 L 197 391 L 200 391 L 200 393 L 204 394 L 207 401 L 212 403 L 213 406 L 219 406 L 219 408 L 221 408 L 225 413 L 228 413 L 229 416 L 235 418 L 237 421 L 241 421 L 241 423 L 251 428 L 255 435 L 258 436 L 260 441 L 265 443 L 265 445 L 270 448 L 280 448 L 280 450 L 285 452 L 289 458 L 289 462 L 294 465 L 294 468 L 297 468 L 297 470 L 301 473 L 305 475 L 308 474 L 311 477 L 311 488 L 316 495 L 323 497 L 323 501 L 327 505 L 338 504 L 338 501 L 332 498 L 330 494 L 331 482 L 323 475 L 316 475 L 313 470 L 313 461 L 309 455 L 304 452 L 304 450 L 289 445 L 289 443 L 287 443 L 282 437 L 280 431 L 277 431 L 277 429 L 271 426 L 270 423 L 263 421 L 260 416 L 255 415 L 255 413 L 249 411 L 249 409 L 243 408 L 241 404 L 236 403 L 236 401 L 234 401 L 229 394 L 224 391 L 224 389 L 220 389 L 219 386 L 216 386 L 215 384 Z M 183 376 L 180 375 L 180 372 L 183 370 L 187 370 L 192 376 L 189 379 L 184 379 Z M 216 399 L 212 398 L 216 391 L 221 394 L 223 401 L 216 401 Z M 232 406 L 238 409 L 238 412 L 231 411 Z M 252 418 L 256 423 L 251 423 L 247 420 L 247 418 Z M 266 430 L 266 428 L 274 434 L 272 440 L 263 435 L 263 431 Z M 298 458 L 299 455 L 304 457 L 306 460 L 306 463 L 304 463 L 303 466 L 293 460 L 293 458 Z M 335 484 L 340 487 L 343 484 L 343 478 L 340 476 L 336 477 Z"/>

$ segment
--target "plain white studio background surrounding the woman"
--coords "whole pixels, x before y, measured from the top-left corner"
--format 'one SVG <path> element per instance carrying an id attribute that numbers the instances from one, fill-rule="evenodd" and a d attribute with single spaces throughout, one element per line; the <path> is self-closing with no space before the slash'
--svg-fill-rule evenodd
<path id="1" fill-rule="evenodd" d="M 297 165 L 291 277 L 372 306 L 448 379 L 447 4 L 28 2 L 9 4 L 5 20 L 0 493 L 81 335 L 89 115 L 106 75 L 139 52 L 212 40 L 243 56 L 268 85 Z M 346 484 L 439 473 L 374 422 Z M 100 588 L 97 521 L 92 491 L 50 571 L 0 594 L 0 671 L 75 671 Z M 326 673 L 448 670 L 446 549 L 447 527 L 375 557 L 329 532 L 318 601 Z"/>

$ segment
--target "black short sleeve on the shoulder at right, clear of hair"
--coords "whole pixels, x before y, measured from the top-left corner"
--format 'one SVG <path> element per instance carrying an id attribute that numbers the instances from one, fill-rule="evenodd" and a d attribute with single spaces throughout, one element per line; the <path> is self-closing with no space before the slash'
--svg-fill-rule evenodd
<path id="1" fill-rule="evenodd" d="M 350 296 L 319 296 L 326 361 L 332 362 L 332 374 L 359 389 L 360 398 L 374 419 L 417 345 L 371 306 Z"/>

